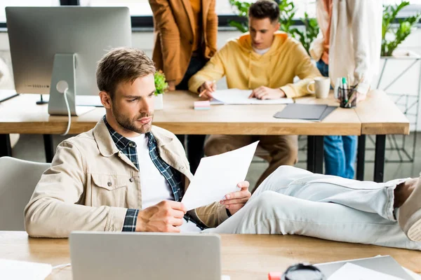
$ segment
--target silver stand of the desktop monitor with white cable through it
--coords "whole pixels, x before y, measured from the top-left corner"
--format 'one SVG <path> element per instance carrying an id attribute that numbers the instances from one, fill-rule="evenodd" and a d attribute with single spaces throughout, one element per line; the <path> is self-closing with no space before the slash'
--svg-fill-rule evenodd
<path id="1" fill-rule="evenodd" d="M 50 115 L 81 116 L 83 113 L 95 109 L 92 106 L 76 106 L 76 54 L 58 53 L 54 56 L 53 74 L 51 75 L 50 100 L 48 113 Z M 62 88 L 62 85 L 67 88 Z M 60 86 L 61 85 L 61 86 Z M 67 109 L 65 94 L 69 109 Z"/>

